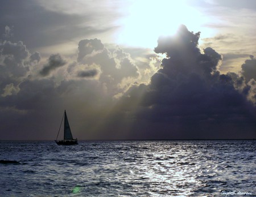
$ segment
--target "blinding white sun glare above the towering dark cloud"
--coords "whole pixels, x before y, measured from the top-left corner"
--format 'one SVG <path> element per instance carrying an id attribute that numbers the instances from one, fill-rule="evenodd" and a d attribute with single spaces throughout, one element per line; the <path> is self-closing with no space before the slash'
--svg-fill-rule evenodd
<path id="1" fill-rule="evenodd" d="M 155 48 L 159 36 L 172 35 L 180 24 L 198 32 L 205 22 L 200 12 L 185 1 L 132 1 L 128 16 L 122 20 L 118 43 Z"/>

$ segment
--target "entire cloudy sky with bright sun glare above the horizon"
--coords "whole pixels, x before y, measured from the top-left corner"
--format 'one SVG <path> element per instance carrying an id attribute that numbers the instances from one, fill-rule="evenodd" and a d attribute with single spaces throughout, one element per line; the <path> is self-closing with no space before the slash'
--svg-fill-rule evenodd
<path id="1" fill-rule="evenodd" d="M 256 1 L 3 0 L 0 140 L 255 139 Z"/>

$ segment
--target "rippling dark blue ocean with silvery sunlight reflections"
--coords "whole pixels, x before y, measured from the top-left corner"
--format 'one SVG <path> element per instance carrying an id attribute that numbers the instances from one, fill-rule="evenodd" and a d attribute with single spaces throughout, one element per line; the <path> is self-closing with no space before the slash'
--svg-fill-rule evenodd
<path id="1" fill-rule="evenodd" d="M 256 140 L 0 141 L 0 196 L 255 196 Z"/>

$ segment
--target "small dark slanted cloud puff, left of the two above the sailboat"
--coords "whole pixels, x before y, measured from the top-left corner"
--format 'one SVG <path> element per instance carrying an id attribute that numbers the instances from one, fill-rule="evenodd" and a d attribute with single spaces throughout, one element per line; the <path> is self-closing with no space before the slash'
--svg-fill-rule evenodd
<path id="1" fill-rule="evenodd" d="M 40 75 L 47 76 L 51 71 L 64 66 L 66 63 L 67 62 L 60 56 L 60 54 L 51 55 L 48 59 L 48 63 L 44 65 L 43 69 L 40 71 Z"/>

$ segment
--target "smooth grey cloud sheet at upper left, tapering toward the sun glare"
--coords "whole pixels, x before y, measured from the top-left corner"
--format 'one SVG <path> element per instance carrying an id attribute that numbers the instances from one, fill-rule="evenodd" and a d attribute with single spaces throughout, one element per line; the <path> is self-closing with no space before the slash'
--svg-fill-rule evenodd
<path id="1" fill-rule="evenodd" d="M 47 2 L 42 2 L 44 4 Z M 61 2 L 60 2 L 61 3 Z M 55 9 L 46 9 L 38 1 L 1 1 L 0 29 L 3 37 L 12 36 L 12 41 L 22 40 L 28 48 L 51 46 L 74 40 L 76 37 L 107 32 L 114 25 L 104 25 L 105 14 L 114 20 L 114 11 L 95 14 L 88 10 L 80 14 L 67 14 Z M 7 28 L 6 28 L 7 27 Z M 2 32 L 1 31 L 1 32 Z"/>

